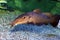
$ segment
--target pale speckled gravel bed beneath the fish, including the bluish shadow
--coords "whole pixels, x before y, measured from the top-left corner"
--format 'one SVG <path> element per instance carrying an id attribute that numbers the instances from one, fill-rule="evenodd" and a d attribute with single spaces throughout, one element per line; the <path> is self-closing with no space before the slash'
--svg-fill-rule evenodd
<path id="1" fill-rule="evenodd" d="M 0 15 L 0 40 L 60 40 L 60 28 L 52 25 L 21 24 L 10 27 L 9 23 L 17 16 Z"/>

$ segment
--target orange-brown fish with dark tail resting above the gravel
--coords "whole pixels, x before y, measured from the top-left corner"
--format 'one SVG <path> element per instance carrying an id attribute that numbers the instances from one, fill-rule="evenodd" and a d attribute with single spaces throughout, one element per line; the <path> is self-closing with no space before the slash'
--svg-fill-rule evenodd
<path id="1" fill-rule="evenodd" d="M 10 24 L 15 26 L 18 24 L 48 24 L 50 23 L 53 27 L 56 27 L 60 19 L 60 15 L 51 15 L 50 13 L 37 13 L 37 12 L 27 12 L 25 14 L 19 15 Z"/>

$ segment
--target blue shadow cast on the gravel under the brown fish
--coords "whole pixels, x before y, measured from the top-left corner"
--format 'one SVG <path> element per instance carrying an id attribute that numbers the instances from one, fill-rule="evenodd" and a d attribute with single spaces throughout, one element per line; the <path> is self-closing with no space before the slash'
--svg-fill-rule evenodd
<path id="1" fill-rule="evenodd" d="M 17 32 L 17 31 L 25 31 L 25 32 L 31 32 L 31 33 L 38 33 L 38 34 L 56 34 L 60 35 L 59 31 L 60 29 L 52 27 L 50 24 L 49 25 L 31 25 L 31 24 L 22 24 L 22 25 L 17 25 L 11 29 L 11 32 Z"/>

